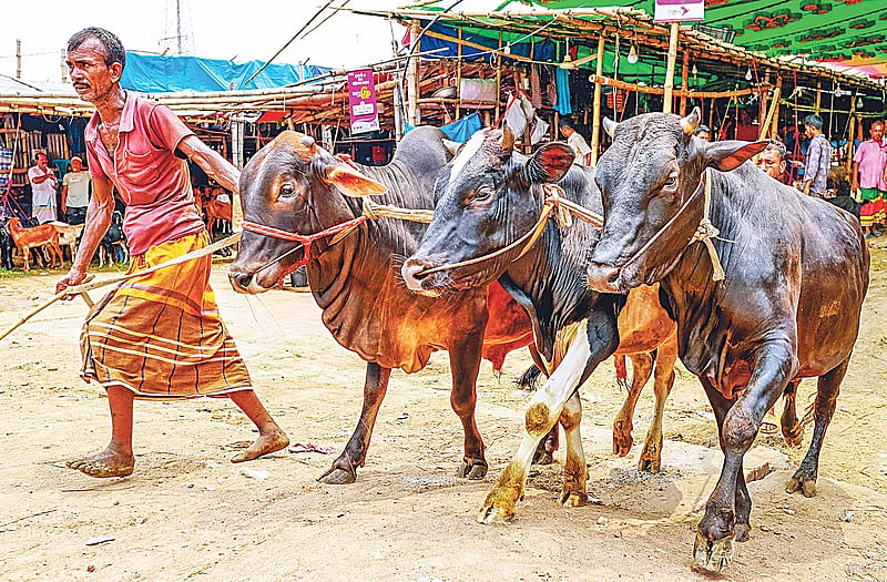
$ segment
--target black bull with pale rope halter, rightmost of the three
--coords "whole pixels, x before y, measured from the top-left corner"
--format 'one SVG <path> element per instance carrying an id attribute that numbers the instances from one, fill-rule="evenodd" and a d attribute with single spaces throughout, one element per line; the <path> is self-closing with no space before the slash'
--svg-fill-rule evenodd
<path id="1" fill-rule="evenodd" d="M 750 534 L 743 456 L 766 411 L 807 377 L 819 378 L 815 428 L 787 490 L 815 494 L 819 449 L 859 330 L 869 255 L 850 214 L 744 164 L 766 142 L 706 144 L 691 136 L 697 124 L 699 110 L 606 123 L 613 145 L 597 175 L 605 224 L 589 284 L 624 293 L 661 282 L 681 360 L 705 388 L 725 456 L 694 548 L 700 565 L 720 571 L 733 541 Z M 690 244 L 704 213 L 706 169 L 722 282 L 712 280 L 703 245 Z"/>

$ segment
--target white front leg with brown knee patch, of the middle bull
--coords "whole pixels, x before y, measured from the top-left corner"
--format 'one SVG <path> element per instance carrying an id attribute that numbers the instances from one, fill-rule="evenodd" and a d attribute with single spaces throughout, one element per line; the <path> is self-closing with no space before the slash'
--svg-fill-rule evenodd
<path id="1" fill-rule="evenodd" d="M 489 523 L 514 517 L 514 504 L 523 497 L 527 472 L 539 439 L 554 426 L 567 400 L 618 346 L 615 310 L 609 312 L 606 307 L 595 309 L 589 319 L 580 324 L 563 361 L 530 400 L 518 452 L 483 501 L 478 514 L 479 522 Z"/>

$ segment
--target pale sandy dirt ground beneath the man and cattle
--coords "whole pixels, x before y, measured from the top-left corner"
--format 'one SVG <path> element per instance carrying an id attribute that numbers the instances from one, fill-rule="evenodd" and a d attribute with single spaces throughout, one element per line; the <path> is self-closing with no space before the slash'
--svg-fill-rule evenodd
<path id="1" fill-rule="evenodd" d="M 776 468 L 750 486 L 751 541 L 726 580 L 887 580 L 887 252 L 873 253 L 863 329 L 822 455 L 818 497 L 784 492 L 803 449 L 761 437 L 746 469 Z M 52 294 L 57 274 L 0 277 L 0 328 Z M 334 447 L 354 429 L 364 363 L 335 344 L 308 294 L 232 292 L 213 275 L 223 316 L 268 409 L 292 441 Z M 600 506 L 557 503 L 561 457 L 531 473 L 507 524 L 477 511 L 520 441 L 529 364 L 485 363 L 478 423 L 490 473 L 453 477 L 461 426 L 449 409 L 445 354 L 424 371 L 395 372 L 365 468 L 351 486 L 316 481 L 335 455 L 279 452 L 241 472 L 228 458 L 251 425 L 226 400 L 140 402 L 135 473 L 95 480 L 64 461 L 106 443 L 105 397 L 78 377 L 85 306 L 55 304 L 0 343 L 0 580 L 699 580 L 694 528 L 721 453 L 707 401 L 683 369 L 665 410 L 663 472 L 638 456 L 653 409 L 642 396 L 635 446 L 611 453 L 624 392 L 612 364 L 582 390 L 582 432 Z M 805 380 L 798 406 L 812 402 Z M 561 451 L 562 452 L 562 451 Z M 262 474 L 259 474 L 262 477 Z M 848 513 L 848 511 L 850 513 Z M 113 538 L 90 545 L 94 538 Z M 93 539 L 93 540 L 91 540 Z"/>

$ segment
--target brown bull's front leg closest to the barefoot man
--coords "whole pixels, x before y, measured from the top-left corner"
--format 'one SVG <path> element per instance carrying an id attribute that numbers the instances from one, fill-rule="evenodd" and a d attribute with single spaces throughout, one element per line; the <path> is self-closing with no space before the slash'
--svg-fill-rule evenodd
<path id="1" fill-rule="evenodd" d="M 373 426 L 379 413 L 381 400 L 388 390 L 390 368 L 383 368 L 378 364 L 367 364 L 367 377 L 364 384 L 364 407 L 360 410 L 360 420 L 354 435 L 348 439 L 345 450 L 333 461 L 333 467 L 322 474 L 318 481 L 327 484 L 347 484 L 357 479 L 357 468 L 366 461 L 369 439 L 373 436 Z"/>

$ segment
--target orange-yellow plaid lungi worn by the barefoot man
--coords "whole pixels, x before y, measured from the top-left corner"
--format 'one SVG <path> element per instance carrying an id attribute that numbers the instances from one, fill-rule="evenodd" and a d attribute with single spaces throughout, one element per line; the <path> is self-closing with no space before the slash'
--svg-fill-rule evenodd
<path id="1" fill-rule="evenodd" d="M 152 246 L 130 272 L 210 243 L 206 232 Z M 95 304 L 80 335 L 85 380 L 136 398 L 223 396 L 252 389 L 210 287 L 210 255 L 126 280 Z"/>

